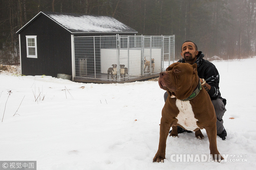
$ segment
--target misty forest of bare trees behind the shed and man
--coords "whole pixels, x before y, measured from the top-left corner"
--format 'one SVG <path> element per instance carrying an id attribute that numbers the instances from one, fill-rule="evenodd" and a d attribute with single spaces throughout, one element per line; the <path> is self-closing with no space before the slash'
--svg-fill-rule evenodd
<path id="1" fill-rule="evenodd" d="M 256 55 L 256 0 L 0 0 L 0 62 L 19 62 L 22 26 L 40 11 L 113 16 L 137 35 L 175 35 L 175 57 L 191 40 L 207 58 Z"/>

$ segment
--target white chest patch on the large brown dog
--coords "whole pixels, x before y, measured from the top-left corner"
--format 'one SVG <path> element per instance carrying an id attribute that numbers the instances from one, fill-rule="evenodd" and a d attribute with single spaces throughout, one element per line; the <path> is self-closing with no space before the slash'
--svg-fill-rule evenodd
<path id="1" fill-rule="evenodd" d="M 178 124 L 189 131 L 194 131 L 196 128 L 199 128 L 196 124 L 198 119 L 195 118 L 190 101 L 182 101 L 177 99 L 176 106 L 180 111 L 176 117 L 176 119 L 178 119 Z"/>

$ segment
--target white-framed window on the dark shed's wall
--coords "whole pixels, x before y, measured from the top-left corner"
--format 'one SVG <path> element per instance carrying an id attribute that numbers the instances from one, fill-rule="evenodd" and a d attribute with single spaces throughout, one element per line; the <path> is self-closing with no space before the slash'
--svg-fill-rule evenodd
<path id="1" fill-rule="evenodd" d="M 36 36 L 26 35 L 27 41 L 27 57 L 37 58 Z"/>

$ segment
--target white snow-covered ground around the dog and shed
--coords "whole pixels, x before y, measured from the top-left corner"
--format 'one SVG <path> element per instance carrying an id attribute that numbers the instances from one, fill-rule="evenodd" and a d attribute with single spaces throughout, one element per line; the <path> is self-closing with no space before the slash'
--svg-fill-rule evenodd
<path id="1" fill-rule="evenodd" d="M 172 154 L 210 153 L 203 130 L 204 140 L 194 132 L 168 137 L 166 160 L 153 163 L 165 92 L 157 81 L 93 84 L 1 74 L 0 160 L 36 160 L 37 170 L 254 169 L 256 58 L 213 63 L 227 99 L 228 136 L 225 141 L 217 137 L 218 150 L 228 160 L 246 159 L 173 162 Z M 17 109 L 19 115 L 13 116 Z"/>

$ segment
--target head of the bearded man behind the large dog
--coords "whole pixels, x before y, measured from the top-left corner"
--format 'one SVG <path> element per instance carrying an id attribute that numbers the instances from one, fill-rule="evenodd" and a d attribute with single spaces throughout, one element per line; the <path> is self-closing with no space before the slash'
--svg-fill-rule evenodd
<path id="1" fill-rule="evenodd" d="M 193 64 L 196 61 L 198 51 L 195 49 L 193 42 L 185 42 L 181 47 L 181 56 L 186 63 Z"/>

